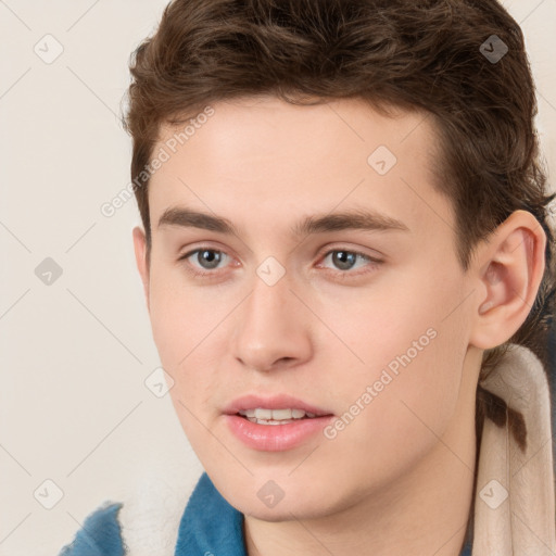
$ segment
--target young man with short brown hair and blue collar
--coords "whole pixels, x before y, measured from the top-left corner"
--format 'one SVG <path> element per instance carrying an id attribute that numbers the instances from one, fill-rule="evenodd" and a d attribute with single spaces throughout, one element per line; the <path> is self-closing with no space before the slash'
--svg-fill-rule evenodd
<path id="1" fill-rule="evenodd" d="M 137 264 L 206 471 L 168 554 L 553 554 L 554 243 L 515 21 L 175 0 L 131 73 Z M 64 554 L 123 554 L 121 507 Z"/>

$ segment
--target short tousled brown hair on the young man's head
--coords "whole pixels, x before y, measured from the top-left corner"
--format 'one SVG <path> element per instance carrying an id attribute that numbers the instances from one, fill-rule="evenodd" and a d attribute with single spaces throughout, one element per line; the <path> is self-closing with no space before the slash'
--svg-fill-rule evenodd
<path id="1" fill-rule="evenodd" d="M 501 53 L 507 48 L 500 60 L 486 55 L 494 45 Z M 514 211 L 532 213 L 547 236 L 535 304 L 509 340 L 546 362 L 554 195 L 540 160 L 523 35 L 496 0 L 174 0 L 154 36 L 137 48 L 130 72 L 124 125 L 134 140 L 136 185 L 161 125 L 186 122 L 219 100 L 274 94 L 311 104 L 357 98 L 382 110 L 422 111 L 438 134 L 435 187 L 455 208 L 463 268 L 477 243 Z M 150 249 L 143 181 L 135 194 Z M 506 345 L 485 352 L 482 377 Z M 480 387 L 477 400 L 479 437 L 482 416 L 502 425 L 507 408 Z"/>

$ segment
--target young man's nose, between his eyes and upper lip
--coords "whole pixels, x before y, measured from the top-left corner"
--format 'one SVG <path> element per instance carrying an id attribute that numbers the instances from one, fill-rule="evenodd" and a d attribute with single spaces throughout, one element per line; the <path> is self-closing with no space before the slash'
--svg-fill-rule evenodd
<path id="1" fill-rule="evenodd" d="M 235 356 L 244 367 L 270 371 L 312 356 L 311 312 L 290 287 L 286 276 L 274 286 L 255 277 L 233 334 Z"/>

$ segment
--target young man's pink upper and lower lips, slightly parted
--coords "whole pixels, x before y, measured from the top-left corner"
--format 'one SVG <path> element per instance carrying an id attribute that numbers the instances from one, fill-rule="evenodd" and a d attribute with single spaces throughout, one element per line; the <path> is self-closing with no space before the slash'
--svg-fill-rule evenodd
<path id="1" fill-rule="evenodd" d="M 237 415 L 240 410 L 264 407 L 267 409 L 303 409 L 317 417 L 299 419 L 286 425 L 257 425 Z M 289 395 L 262 397 L 247 395 L 235 400 L 224 410 L 227 426 L 232 434 L 248 447 L 265 452 L 281 452 L 303 444 L 311 437 L 321 432 L 333 418 L 331 412 L 307 404 Z"/>

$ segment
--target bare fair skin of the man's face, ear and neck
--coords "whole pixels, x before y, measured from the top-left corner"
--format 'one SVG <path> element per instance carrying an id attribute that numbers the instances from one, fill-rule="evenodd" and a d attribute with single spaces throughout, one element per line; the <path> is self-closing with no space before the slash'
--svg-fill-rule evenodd
<path id="1" fill-rule="evenodd" d="M 151 178 L 150 266 L 139 227 L 134 242 L 173 404 L 214 484 L 245 515 L 248 554 L 458 555 L 482 352 L 527 317 L 544 232 L 518 211 L 464 271 L 422 114 L 271 97 L 213 108 Z M 162 127 L 154 152 L 175 131 Z M 397 159 L 383 176 L 367 163 L 379 146 Z M 157 227 L 178 205 L 226 217 L 239 233 Z M 290 235 L 305 216 L 356 207 L 407 230 Z M 197 254 L 178 261 L 200 248 L 224 252 L 215 269 Z M 339 266 L 334 253 L 350 250 L 380 262 Z M 271 287 L 256 274 L 268 256 L 286 271 Z M 261 452 L 226 426 L 224 407 L 247 393 L 289 393 L 341 416 L 429 329 L 434 339 L 332 440 Z M 269 480 L 285 493 L 271 508 L 257 496 Z"/>

